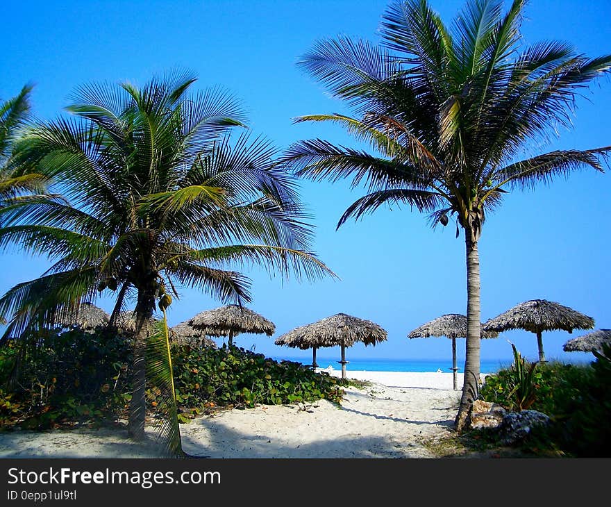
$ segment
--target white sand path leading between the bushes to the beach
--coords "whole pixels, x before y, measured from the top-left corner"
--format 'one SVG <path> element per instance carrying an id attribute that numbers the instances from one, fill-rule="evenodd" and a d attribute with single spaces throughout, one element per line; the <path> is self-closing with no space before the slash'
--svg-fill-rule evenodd
<path id="1" fill-rule="evenodd" d="M 348 376 L 374 384 L 347 388 L 340 407 L 321 400 L 199 417 L 181 424 L 183 449 L 210 458 L 436 457 L 423 440 L 447 435 L 453 425 L 460 390 L 452 389 L 451 373 Z M 0 458 L 143 458 L 159 456 L 157 449 L 131 442 L 122 429 L 0 433 Z"/>

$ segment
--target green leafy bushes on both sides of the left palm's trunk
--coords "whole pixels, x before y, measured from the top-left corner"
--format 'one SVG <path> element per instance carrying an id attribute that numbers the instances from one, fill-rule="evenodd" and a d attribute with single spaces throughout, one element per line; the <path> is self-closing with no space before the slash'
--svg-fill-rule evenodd
<path id="1" fill-rule="evenodd" d="M 26 351 L 0 348 L 0 426 L 45 429 L 117 422 L 131 399 L 131 345 L 103 330 L 35 337 Z M 25 340 L 24 340 L 25 342 Z M 217 407 L 339 403 L 346 381 L 291 361 L 278 362 L 237 347 L 172 344 L 178 419 L 187 422 Z M 161 391 L 147 389 L 151 415 Z"/>

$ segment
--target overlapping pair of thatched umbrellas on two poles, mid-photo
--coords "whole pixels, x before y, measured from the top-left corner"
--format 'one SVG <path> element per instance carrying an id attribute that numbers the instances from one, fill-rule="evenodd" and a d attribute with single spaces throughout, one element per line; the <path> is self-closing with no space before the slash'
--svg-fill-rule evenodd
<path id="1" fill-rule="evenodd" d="M 346 378 L 346 347 L 352 347 L 356 342 L 365 345 L 375 345 L 383 342 L 387 338 L 387 333 L 378 324 L 370 320 L 358 319 L 345 313 L 337 313 L 332 317 L 326 317 L 300 326 L 282 335 L 276 344 L 287 345 L 289 347 L 299 347 L 299 349 L 312 349 L 312 366 L 316 367 L 316 349 L 319 347 L 342 347 L 342 379 Z"/>

